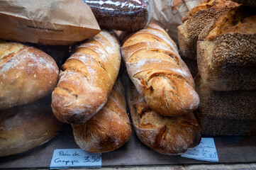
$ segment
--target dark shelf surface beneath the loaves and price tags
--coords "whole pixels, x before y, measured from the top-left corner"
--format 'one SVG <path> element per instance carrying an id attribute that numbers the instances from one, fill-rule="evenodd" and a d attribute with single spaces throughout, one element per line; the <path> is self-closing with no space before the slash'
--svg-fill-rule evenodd
<path id="1" fill-rule="evenodd" d="M 218 152 L 219 162 L 252 163 L 256 162 L 256 136 L 213 137 Z M 65 125 L 60 135 L 49 142 L 22 154 L 0 158 L 0 169 L 8 168 L 49 168 L 54 149 L 79 148 L 74 142 L 72 128 Z M 167 156 L 143 145 L 133 132 L 130 140 L 123 147 L 113 152 L 102 154 L 104 166 L 147 166 L 172 164 L 213 164 L 180 156 Z"/>

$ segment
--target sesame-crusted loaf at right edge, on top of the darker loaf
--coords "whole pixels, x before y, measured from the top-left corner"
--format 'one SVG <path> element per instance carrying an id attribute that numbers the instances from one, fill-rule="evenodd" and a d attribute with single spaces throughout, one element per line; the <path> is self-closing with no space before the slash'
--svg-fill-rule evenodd
<path id="1" fill-rule="evenodd" d="M 256 11 L 238 6 L 223 12 L 199 36 L 197 63 L 215 91 L 256 90 Z"/>

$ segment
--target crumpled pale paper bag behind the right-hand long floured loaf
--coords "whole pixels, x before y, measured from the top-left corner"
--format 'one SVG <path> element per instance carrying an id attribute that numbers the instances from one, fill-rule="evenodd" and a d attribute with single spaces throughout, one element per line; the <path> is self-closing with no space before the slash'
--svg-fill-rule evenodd
<path id="1" fill-rule="evenodd" d="M 169 36 L 178 42 L 177 26 L 182 24 L 182 17 L 204 0 L 153 0 L 151 21 L 167 30 Z"/>

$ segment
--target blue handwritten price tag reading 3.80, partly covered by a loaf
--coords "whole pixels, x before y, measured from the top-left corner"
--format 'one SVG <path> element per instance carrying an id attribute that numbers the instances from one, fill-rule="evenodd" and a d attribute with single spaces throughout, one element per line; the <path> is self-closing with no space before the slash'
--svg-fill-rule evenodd
<path id="1" fill-rule="evenodd" d="M 181 156 L 201 161 L 218 162 L 218 154 L 214 140 L 210 137 L 202 137 L 198 146 L 188 149 L 187 152 Z"/>

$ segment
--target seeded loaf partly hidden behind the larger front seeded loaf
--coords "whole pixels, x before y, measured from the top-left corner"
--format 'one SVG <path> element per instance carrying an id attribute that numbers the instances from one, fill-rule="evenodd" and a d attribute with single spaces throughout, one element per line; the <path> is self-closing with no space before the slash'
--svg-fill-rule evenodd
<path id="1" fill-rule="evenodd" d="M 196 6 L 183 18 L 183 24 L 178 26 L 179 48 L 182 57 L 196 60 L 196 42 L 202 30 L 208 30 L 223 11 L 238 6 L 233 1 L 207 0 Z"/>

